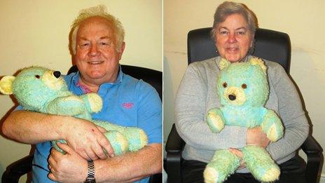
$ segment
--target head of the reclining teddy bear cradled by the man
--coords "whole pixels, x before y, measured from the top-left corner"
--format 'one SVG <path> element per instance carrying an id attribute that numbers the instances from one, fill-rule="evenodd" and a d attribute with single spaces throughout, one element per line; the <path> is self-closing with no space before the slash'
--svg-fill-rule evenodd
<path id="1" fill-rule="evenodd" d="M 39 111 L 46 102 L 65 95 L 67 84 L 60 72 L 43 67 L 27 67 L 17 76 L 4 76 L 0 92 L 15 95 L 25 109 Z"/>

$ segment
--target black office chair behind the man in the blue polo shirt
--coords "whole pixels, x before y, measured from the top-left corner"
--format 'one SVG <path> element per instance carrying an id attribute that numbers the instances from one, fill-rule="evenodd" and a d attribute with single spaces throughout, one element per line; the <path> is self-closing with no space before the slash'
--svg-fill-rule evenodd
<path id="1" fill-rule="evenodd" d="M 136 79 L 142 79 L 146 83 L 151 84 L 151 86 L 153 86 L 153 88 L 157 90 L 160 100 L 163 100 L 163 73 L 162 72 L 153 69 L 147 69 L 144 67 L 131 66 L 131 65 L 121 65 L 121 67 L 123 73 L 128 74 Z M 77 71 L 78 69 L 74 65 L 69 69 L 68 74 Z M 33 155 L 29 155 L 26 156 L 25 158 L 15 161 L 14 163 L 11 163 L 11 165 L 8 165 L 6 171 L 2 175 L 1 181 L 3 183 L 18 182 L 18 180 L 22 175 L 25 175 L 28 172 L 32 171 L 33 157 L 34 157 Z M 163 182 L 163 173 L 151 175 L 149 182 L 151 183 Z"/>

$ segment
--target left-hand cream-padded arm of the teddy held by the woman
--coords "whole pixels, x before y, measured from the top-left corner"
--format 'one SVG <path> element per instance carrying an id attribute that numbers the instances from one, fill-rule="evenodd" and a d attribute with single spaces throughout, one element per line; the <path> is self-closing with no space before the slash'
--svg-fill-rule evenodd
<path id="1" fill-rule="evenodd" d="M 214 108 L 207 112 L 207 125 L 214 133 L 219 133 L 225 127 L 225 119 L 221 109 Z"/>

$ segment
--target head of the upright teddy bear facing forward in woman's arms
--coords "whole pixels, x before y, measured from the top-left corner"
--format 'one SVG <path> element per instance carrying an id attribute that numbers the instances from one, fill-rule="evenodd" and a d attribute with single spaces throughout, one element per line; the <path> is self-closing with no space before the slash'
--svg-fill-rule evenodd
<path id="1" fill-rule="evenodd" d="M 219 101 L 223 106 L 261 107 L 268 100 L 266 66 L 256 57 L 248 62 L 219 63 L 221 73 L 216 82 Z"/>

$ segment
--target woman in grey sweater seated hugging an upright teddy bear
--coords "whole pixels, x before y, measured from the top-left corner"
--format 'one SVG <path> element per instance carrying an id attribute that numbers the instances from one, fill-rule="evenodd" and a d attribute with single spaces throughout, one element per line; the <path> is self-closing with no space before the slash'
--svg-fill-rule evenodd
<path id="1" fill-rule="evenodd" d="M 257 20 L 244 4 L 224 2 L 214 14 L 212 34 L 220 56 L 189 65 L 181 81 L 176 100 L 176 127 L 186 141 L 182 164 L 184 182 L 203 182 L 203 170 L 217 149 L 229 149 L 242 156 L 238 148 L 247 144 L 265 147 L 282 168 L 279 182 L 288 182 L 286 168 L 299 167 L 295 151 L 308 134 L 308 123 L 295 86 L 284 69 L 264 60 L 268 67 L 270 95 L 265 107 L 276 111 L 284 124 L 284 137 L 270 143 L 261 128 L 226 126 L 221 133 L 212 133 L 205 123 L 207 111 L 220 107 L 216 96 L 216 76 L 221 58 L 230 62 L 246 62 L 251 58 Z M 290 176 L 291 177 L 291 176 Z M 302 182 L 302 175 L 294 175 Z M 292 178 L 292 177 L 291 177 Z M 226 182 L 257 182 L 241 165 Z"/>

